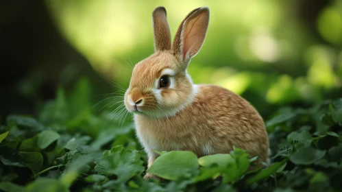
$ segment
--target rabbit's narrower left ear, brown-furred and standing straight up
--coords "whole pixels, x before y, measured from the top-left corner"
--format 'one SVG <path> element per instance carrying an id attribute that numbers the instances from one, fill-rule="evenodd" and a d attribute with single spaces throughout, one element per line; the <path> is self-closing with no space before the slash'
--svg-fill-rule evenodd
<path id="1" fill-rule="evenodd" d="M 154 51 L 171 49 L 171 32 L 167 23 L 167 11 L 164 7 L 158 7 L 152 14 L 154 27 Z"/>

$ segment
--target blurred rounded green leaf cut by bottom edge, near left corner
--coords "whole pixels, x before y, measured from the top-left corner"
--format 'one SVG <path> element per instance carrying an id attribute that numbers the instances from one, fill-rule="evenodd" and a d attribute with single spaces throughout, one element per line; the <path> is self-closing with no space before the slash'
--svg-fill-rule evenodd
<path id="1" fill-rule="evenodd" d="M 64 186 L 59 180 L 51 178 L 38 178 L 26 187 L 25 192 L 67 192 L 68 187 Z"/>

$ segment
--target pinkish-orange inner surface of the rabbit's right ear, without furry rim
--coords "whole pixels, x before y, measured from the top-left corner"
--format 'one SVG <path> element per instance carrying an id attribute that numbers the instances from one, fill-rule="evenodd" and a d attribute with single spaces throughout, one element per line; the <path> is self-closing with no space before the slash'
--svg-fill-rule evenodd
<path id="1" fill-rule="evenodd" d="M 184 23 L 183 58 L 186 53 L 189 53 L 190 57 L 194 56 L 201 48 L 208 25 L 208 16 L 204 13 L 201 12 Z"/>

